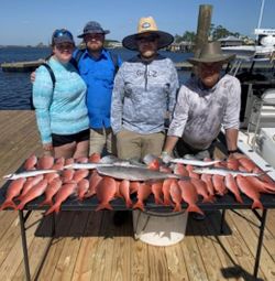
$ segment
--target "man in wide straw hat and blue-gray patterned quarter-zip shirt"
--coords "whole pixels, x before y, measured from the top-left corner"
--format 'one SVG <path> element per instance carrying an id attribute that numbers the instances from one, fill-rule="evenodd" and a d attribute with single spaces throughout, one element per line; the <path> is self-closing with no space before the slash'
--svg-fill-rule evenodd
<path id="1" fill-rule="evenodd" d="M 141 18 L 138 33 L 122 41 L 138 55 L 122 64 L 112 93 L 111 126 L 121 159 L 141 160 L 162 152 L 164 122 L 175 106 L 178 77 L 174 63 L 157 51 L 173 41 L 152 17 Z"/>

